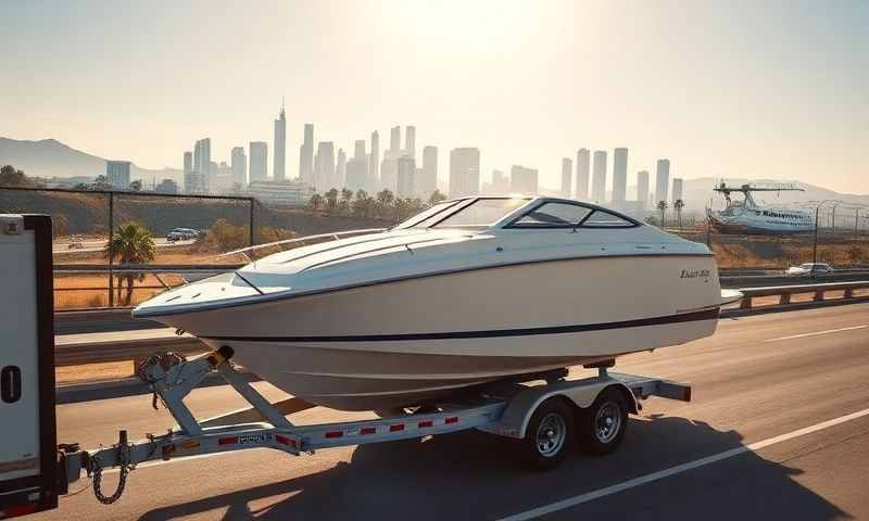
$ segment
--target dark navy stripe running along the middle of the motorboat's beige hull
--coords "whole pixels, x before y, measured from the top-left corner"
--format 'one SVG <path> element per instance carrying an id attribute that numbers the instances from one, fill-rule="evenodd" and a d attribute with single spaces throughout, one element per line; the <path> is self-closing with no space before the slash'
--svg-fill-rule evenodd
<path id="1" fill-rule="evenodd" d="M 349 335 L 304 335 L 304 336 L 209 336 L 198 335 L 204 340 L 225 342 L 406 342 L 415 340 L 456 340 L 456 339 L 494 339 L 504 336 L 531 336 L 538 334 L 563 334 L 584 331 L 605 331 L 609 329 L 641 328 L 667 323 L 714 320 L 718 318 L 718 307 L 700 312 L 666 315 L 663 317 L 639 318 L 619 322 L 580 323 L 574 326 L 549 326 L 543 328 L 493 329 L 487 331 L 448 331 L 437 333 L 399 333 L 399 334 L 349 334 Z"/>

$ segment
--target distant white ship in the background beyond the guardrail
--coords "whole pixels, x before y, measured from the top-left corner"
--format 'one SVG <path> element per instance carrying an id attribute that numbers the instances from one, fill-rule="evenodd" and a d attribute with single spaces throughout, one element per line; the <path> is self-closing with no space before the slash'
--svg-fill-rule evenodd
<path id="1" fill-rule="evenodd" d="M 723 194 L 726 206 L 720 211 L 707 207 L 706 217 L 709 225 L 721 233 L 794 234 L 815 231 L 815 221 L 808 212 L 799 208 L 761 206 L 752 196 L 752 192 L 802 192 L 804 191 L 802 188 L 764 188 L 751 185 L 728 187 L 721 182 L 713 190 Z M 734 192 L 742 193 L 743 200 L 733 201 L 730 194 Z"/>

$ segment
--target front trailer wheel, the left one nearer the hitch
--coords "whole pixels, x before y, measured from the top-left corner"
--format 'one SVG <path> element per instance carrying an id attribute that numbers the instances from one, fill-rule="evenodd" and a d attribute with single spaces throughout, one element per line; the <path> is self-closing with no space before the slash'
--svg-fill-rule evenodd
<path id="1" fill-rule="evenodd" d="M 570 452 L 574 439 L 574 409 L 561 398 L 540 404 L 531 415 L 521 441 L 525 466 L 550 470 Z"/>

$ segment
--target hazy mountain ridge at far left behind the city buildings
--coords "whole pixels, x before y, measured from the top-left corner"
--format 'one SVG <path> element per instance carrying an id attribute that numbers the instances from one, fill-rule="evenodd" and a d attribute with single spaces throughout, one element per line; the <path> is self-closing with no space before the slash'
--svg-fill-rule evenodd
<path id="1" fill-rule="evenodd" d="M 0 138 L 0 165 L 12 165 L 30 177 L 76 177 L 90 178 L 105 174 L 105 158 L 73 149 L 56 139 L 26 141 Z M 151 182 L 155 179 L 173 179 L 184 182 L 184 174 L 175 168 L 153 170 L 130 165 L 130 179 Z"/>

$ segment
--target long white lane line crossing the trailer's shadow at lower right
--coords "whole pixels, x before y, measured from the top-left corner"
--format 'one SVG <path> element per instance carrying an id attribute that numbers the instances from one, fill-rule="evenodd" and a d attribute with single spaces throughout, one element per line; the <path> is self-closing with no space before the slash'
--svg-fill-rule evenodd
<path id="1" fill-rule="evenodd" d="M 525 512 L 519 512 L 503 518 L 500 521 L 524 521 L 527 519 L 539 518 L 547 513 L 557 512 L 558 510 L 564 510 L 566 508 L 576 507 L 577 505 L 582 505 L 583 503 L 593 501 L 594 499 L 599 499 L 601 497 L 618 494 L 619 492 L 627 491 L 629 488 L 633 488 L 640 485 L 644 485 L 646 483 L 652 483 L 654 481 L 663 480 L 665 478 L 679 474 L 687 470 L 704 467 L 748 452 L 760 450 L 761 448 L 766 448 L 770 445 L 774 445 L 781 442 L 786 442 L 788 440 L 793 440 L 794 437 L 804 436 L 806 434 L 811 434 L 813 432 L 839 425 L 847 421 L 856 420 L 857 418 L 861 418 L 867 415 L 869 415 L 869 409 L 862 409 L 857 412 L 853 412 L 851 415 L 845 415 L 839 418 L 833 418 L 832 420 L 815 423 L 814 425 L 809 425 L 804 429 L 797 429 L 796 431 L 791 431 L 785 434 L 781 434 L 779 436 L 768 437 L 759 442 L 755 442 L 748 445 L 743 445 L 736 448 L 731 448 L 730 450 L 725 450 L 723 453 L 714 454 L 705 458 L 695 459 L 694 461 L 677 465 L 676 467 L 670 467 L 669 469 L 664 469 L 657 472 L 652 472 L 650 474 L 641 475 L 639 478 L 634 478 L 632 480 L 628 480 L 622 483 L 617 483 L 615 485 L 606 486 L 604 488 L 597 488 L 596 491 L 581 494 L 579 496 L 562 499 L 561 501 L 555 501 L 550 505 L 544 505 L 542 507 L 532 508 L 531 510 L 526 510 Z"/>

